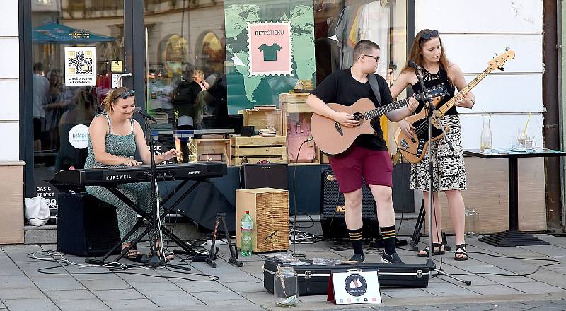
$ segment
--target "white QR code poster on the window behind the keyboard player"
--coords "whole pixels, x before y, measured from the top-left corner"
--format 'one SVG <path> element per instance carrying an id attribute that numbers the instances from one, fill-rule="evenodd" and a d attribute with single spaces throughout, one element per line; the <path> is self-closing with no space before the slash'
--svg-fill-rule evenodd
<path id="1" fill-rule="evenodd" d="M 65 47 L 65 85 L 96 86 L 95 61 L 95 47 Z"/>

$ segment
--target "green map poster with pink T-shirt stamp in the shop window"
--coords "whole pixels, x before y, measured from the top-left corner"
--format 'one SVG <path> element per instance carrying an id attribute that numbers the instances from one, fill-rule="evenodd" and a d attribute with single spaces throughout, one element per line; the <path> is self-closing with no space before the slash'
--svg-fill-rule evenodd
<path id="1" fill-rule="evenodd" d="M 279 104 L 297 81 L 314 82 L 313 1 L 224 1 L 228 112 Z"/>

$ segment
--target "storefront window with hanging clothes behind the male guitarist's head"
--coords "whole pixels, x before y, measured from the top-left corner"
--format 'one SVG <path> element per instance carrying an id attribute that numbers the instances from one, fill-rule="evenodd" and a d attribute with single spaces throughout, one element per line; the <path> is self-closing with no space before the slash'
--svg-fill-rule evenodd
<path id="1" fill-rule="evenodd" d="M 377 74 L 391 84 L 407 54 L 407 1 L 318 0 L 314 2 L 316 83 L 352 66 L 359 40 L 381 47 Z"/>

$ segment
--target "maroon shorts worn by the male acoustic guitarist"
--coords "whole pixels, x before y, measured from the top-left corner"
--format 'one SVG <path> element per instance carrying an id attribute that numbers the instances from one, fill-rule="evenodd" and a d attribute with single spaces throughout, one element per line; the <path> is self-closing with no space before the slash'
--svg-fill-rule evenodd
<path id="1" fill-rule="evenodd" d="M 348 193 L 366 184 L 392 187 L 393 165 L 389 151 L 376 151 L 359 146 L 330 158 L 330 168 L 338 181 L 340 192 Z"/>

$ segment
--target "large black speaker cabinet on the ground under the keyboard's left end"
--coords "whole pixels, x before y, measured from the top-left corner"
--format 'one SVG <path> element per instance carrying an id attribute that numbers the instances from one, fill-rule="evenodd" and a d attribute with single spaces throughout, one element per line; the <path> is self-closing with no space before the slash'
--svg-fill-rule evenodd
<path id="1" fill-rule="evenodd" d="M 100 256 L 120 242 L 114 206 L 87 193 L 59 193 L 57 202 L 59 252 L 83 257 Z"/>

